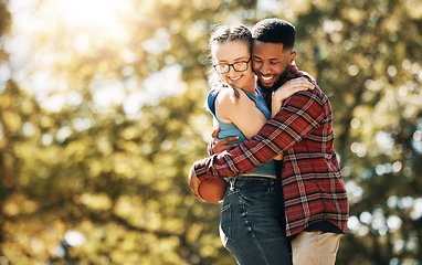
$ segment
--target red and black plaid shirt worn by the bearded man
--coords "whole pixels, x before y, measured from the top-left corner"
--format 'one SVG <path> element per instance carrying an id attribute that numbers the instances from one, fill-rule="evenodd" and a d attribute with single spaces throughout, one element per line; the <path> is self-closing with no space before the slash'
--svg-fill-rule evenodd
<path id="1" fill-rule="evenodd" d="M 307 76 L 293 66 L 287 80 Z M 312 80 L 310 77 L 308 77 Z M 333 112 L 328 97 L 315 89 L 287 98 L 257 135 L 239 147 L 194 163 L 200 180 L 241 176 L 282 153 L 286 235 L 328 221 L 347 232 L 349 206 L 334 150 Z"/>

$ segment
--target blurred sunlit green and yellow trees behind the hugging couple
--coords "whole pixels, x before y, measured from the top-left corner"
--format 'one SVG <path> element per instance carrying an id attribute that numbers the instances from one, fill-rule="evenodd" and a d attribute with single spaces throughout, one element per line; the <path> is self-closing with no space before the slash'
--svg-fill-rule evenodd
<path id="1" fill-rule="evenodd" d="M 0 265 L 231 265 L 187 184 L 219 23 L 296 25 L 350 200 L 337 264 L 422 264 L 421 0 L 0 0 Z"/>

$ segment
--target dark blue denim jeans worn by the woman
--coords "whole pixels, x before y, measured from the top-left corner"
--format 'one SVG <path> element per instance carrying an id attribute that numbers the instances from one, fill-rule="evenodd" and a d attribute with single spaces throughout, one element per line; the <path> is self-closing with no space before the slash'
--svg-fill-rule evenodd
<path id="1" fill-rule="evenodd" d="M 279 189 L 275 179 L 230 179 L 221 209 L 220 237 L 238 264 L 292 264 Z"/>

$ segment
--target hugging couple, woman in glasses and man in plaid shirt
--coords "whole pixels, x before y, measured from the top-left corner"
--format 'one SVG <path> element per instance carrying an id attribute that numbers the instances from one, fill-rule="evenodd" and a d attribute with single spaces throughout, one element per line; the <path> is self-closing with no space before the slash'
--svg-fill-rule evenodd
<path id="1" fill-rule="evenodd" d="M 334 150 L 333 112 L 295 65 L 295 28 L 266 19 L 211 35 L 210 157 L 189 186 L 225 179 L 220 236 L 240 265 L 335 264 L 348 200 Z M 203 199 L 202 199 L 203 200 Z"/>

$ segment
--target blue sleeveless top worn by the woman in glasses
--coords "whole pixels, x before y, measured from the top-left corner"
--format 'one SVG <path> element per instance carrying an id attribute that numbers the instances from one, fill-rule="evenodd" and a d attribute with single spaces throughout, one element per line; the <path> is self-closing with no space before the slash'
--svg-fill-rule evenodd
<path id="1" fill-rule="evenodd" d="M 240 91 L 242 91 L 242 89 L 240 89 Z M 255 103 L 256 108 L 260 109 L 262 114 L 264 114 L 265 118 L 270 119 L 271 118 L 271 112 L 266 107 L 264 96 L 262 95 L 261 89 L 259 87 L 255 87 L 255 91 L 257 92 L 257 96 L 253 93 L 250 93 L 250 92 L 245 92 L 245 91 L 242 91 L 242 92 L 244 92 L 246 94 L 246 96 Z M 213 119 L 214 123 L 217 123 L 220 126 L 219 138 L 221 139 L 221 138 L 225 138 L 229 136 L 239 136 L 239 140 L 231 141 L 231 142 L 242 142 L 244 140 L 247 140 L 247 138 L 243 135 L 243 132 L 233 123 L 224 123 L 224 121 L 221 121 L 220 119 L 217 118 L 215 105 L 214 105 L 217 95 L 219 95 L 219 89 L 213 87 L 211 89 L 211 92 L 208 94 L 207 106 L 208 106 L 209 110 L 211 112 L 211 114 L 214 118 Z M 275 174 L 275 162 L 274 162 L 274 160 L 271 160 L 271 161 L 262 165 L 260 168 L 257 168 L 257 169 L 255 169 L 249 173 L 245 173 L 243 176 L 263 176 L 263 177 L 276 176 Z"/>

